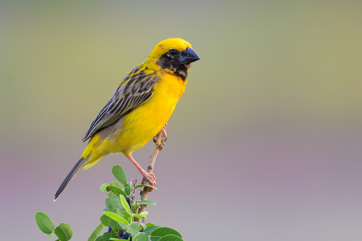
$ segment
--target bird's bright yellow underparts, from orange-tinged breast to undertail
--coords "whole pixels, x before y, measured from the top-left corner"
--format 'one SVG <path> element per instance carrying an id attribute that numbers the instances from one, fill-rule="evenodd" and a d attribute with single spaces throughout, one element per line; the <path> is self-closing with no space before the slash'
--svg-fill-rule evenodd
<path id="1" fill-rule="evenodd" d="M 110 153 L 131 155 L 160 132 L 186 87 L 186 81 L 173 74 L 164 73 L 160 78 L 151 98 L 125 115 L 117 130 L 105 139 L 98 134 L 93 135 L 82 155 L 83 158 L 90 155 L 84 164 L 85 169 Z"/>

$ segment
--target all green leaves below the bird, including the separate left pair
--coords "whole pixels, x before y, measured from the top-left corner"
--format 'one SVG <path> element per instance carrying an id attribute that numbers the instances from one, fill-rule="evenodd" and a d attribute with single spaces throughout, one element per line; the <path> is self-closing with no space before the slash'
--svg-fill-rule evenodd
<path id="1" fill-rule="evenodd" d="M 156 203 L 150 200 L 134 201 L 135 190 L 143 186 L 154 187 L 128 182 L 125 171 L 119 165 L 112 168 L 112 173 L 119 182 L 112 181 L 109 184 L 101 185 L 100 190 L 108 193 L 108 198 L 105 199 L 105 208 L 100 217 L 101 224 L 94 229 L 88 241 L 121 240 L 122 238 L 119 236 L 121 230 L 130 233 L 131 236 L 128 240 L 133 241 L 182 241 L 181 234 L 176 230 L 146 223 L 147 211 L 138 213 L 140 205 L 156 205 Z M 131 188 L 131 184 L 133 184 L 133 188 Z M 142 219 L 142 222 L 136 222 L 135 218 Z M 55 233 L 58 237 L 56 241 L 68 241 L 73 235 L 69 224 L 61 223 L 55 228 L 49 216 L 44 212 L 37 212 L 35 221 L 43 233 L 49 234 L 49 238 L 52 238 Z M 101 234 L 105 227 L 108 227 L 109 232 Z"/>

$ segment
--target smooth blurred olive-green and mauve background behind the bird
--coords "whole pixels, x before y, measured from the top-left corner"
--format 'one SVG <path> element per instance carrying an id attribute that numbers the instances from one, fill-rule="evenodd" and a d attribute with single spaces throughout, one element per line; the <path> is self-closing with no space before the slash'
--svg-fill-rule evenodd
<path id="1" fill-rule="evenodd" d="M 121 80 L 180 37 L 201 61 L 168 122 L 147 220 L 185 241 L 360 240 L 361 10 L 357 0 L 1 1 L 2 239 L 48 240 L 36 211 L 88 239 L 112 166 L 140 173 L 109 155 L 53 202 L 55 191 Z M 153 147 L 133 155 L 144 168 Z"/>

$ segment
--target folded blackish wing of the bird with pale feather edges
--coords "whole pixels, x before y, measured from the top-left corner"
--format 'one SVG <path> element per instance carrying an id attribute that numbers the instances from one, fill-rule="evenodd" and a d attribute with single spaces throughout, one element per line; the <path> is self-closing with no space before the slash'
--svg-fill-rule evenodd
<path id="1" fill-rule="evenodd" d="M 145 103 L 152 96 L 155 84 L 156 77 L 144 73 L 139 66 L 132 70 L 90 124 L 83 141 L 87 141 L 94 133 L 113 124 L 137 106 Z"/>

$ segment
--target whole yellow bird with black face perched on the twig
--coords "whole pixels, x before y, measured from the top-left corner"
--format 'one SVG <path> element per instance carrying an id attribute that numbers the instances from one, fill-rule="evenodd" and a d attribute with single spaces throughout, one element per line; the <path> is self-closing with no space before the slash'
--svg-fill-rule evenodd
<path id="1" fill-rule="evenodd" d="M 81 167 L 93 167 L 103 156 L 122 152 L 152 186 L 155 176 L 140 167 L 131 154 L 161 130 L 166 138 L 166 122 L 186 87 L 190 63 L 200 57 L 184 39 L 165 39 L 147 59 L 131 71 L 109 102 L 90 124 L 83 141 L 87 147 L 60 185 L 59 197 Z"/>

